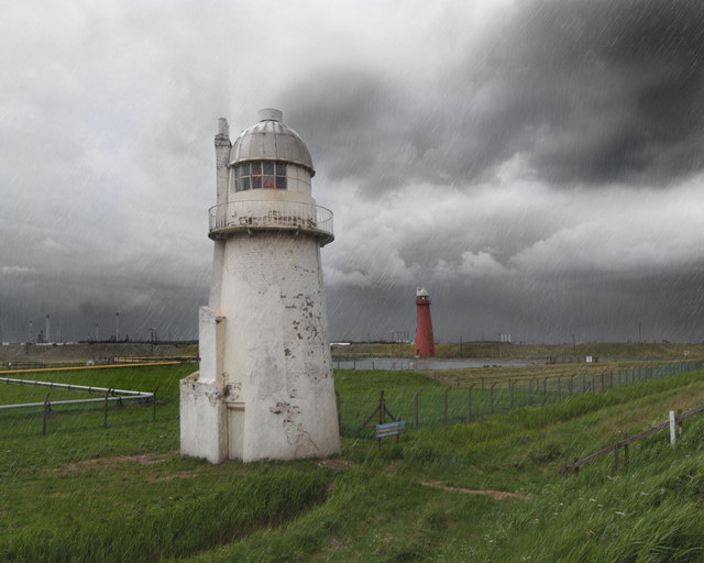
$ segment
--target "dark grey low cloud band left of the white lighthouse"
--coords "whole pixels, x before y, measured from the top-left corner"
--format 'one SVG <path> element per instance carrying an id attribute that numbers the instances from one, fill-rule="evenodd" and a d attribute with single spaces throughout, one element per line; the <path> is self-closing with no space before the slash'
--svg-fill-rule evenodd
<path id="1" fill-rule="evenodd" d="M 175 264 L 153 263 L 120 267 L 73 261 L 74 268 L 43 265 L 41 271 L 0 268 L 0 331 L 6 338 L 28 336 L 33 320 L 34 338 L 52 317 L 52 339 L 108 339 L 116 333 L 120 312 L 121 338 L 147 340 L 158 327 L 163 339 L 194 338 L 198 307 L 207 300 L 207 274 L 194 275 Z"/>

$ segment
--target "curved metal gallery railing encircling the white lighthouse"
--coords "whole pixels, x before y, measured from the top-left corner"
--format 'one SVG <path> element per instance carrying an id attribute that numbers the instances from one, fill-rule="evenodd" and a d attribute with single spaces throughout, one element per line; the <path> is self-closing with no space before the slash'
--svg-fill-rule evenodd
<path id="1" fill-rule="evenodd" d="M 299 201 L 242 200 L 213 206 L 208 211 L 211 238 L 238 230 L 307 231 L 327 244 L 332 234 L 332 211 Z"/>

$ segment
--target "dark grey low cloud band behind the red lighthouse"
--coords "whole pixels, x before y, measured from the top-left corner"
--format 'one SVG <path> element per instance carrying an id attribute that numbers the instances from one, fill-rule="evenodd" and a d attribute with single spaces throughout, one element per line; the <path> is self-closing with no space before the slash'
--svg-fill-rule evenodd
<path id="1" fill-rule="evenodd" d="M 436 338 L 576 342 L 662 340 L 701 342 L 704 264 L 688 272 L 586 273 L 491 277 L 430 286 Z M 388 340 L 415 329 L 415 287 L 329 287 L 332 338 Z"/>

